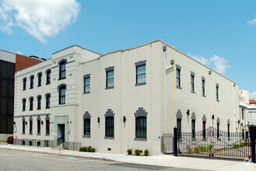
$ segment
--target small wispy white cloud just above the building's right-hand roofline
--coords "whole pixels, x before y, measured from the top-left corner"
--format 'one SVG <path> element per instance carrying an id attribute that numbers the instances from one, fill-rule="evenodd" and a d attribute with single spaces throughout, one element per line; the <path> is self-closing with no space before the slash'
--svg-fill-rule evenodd
<path id="1" fill-rule="evenodd" d="M 216 72 L 219 72 L 219 73 L 222 73 L 222 74 L 224 72 L 226 72 L 227 68 L 231 67 L 230 65 L 226 64 L 226 59 L 225 58 L 219 57 L 216 54 L 213 54 L 212 58 L 205 58 L 205 57 L 202 57 L 202 56 L 198 57 L 198 56 L 192 55 L 189 52 L 188 52 L 188 55 L 191 56 L 192 58 L 195 58 L 195 60 L 201 62 L 204 65 L 212 66 L 216 70 Z"/>

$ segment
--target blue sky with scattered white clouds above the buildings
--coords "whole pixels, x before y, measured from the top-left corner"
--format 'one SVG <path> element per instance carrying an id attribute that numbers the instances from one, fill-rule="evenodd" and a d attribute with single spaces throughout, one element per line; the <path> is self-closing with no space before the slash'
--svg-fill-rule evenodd
<path id="1" fill-rule="evenodd" d="M 106 54 L 161 39 L 256 97 L 256 1 L 0 0 L 0 49 L 51 58 L 77 44 Z"/>

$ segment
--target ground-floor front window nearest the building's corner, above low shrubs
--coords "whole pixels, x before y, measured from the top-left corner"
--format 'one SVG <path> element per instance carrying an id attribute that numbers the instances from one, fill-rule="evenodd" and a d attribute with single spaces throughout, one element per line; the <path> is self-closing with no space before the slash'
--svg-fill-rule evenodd
<path id="1" fill-rule="evenodd" d="M 146 138 L 146 117 L 136 117 L 136 138 Z"/>

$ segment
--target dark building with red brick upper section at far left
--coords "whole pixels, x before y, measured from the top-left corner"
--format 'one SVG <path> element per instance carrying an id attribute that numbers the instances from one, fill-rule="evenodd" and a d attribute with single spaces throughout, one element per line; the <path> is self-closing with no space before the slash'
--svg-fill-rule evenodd
<path id="1" fill-rule="evenodd" d="M 14 74 L 40 60 L 0 50 L 0 141 L 12 136 Z"/>

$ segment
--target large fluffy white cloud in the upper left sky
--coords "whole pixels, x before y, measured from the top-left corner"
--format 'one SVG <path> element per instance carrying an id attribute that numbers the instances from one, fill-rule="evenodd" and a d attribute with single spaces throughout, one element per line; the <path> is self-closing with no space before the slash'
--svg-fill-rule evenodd
<path id="1" fill-rule="evenodd" d="M 0 30 L 19 26 L 45 43 L 65 26 L 75 23 L 80 5 L 75 0 L 0 0 Z"/>

